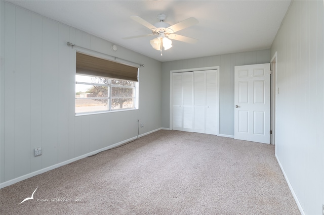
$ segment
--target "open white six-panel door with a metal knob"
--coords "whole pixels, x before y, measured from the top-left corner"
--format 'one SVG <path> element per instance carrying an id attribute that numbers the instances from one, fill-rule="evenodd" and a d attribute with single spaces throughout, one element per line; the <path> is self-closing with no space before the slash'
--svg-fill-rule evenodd
<path id="1" fill-rule="evenodd" d="M 269 144 L 270 64 L 234 70 L 234 138 Z"/>

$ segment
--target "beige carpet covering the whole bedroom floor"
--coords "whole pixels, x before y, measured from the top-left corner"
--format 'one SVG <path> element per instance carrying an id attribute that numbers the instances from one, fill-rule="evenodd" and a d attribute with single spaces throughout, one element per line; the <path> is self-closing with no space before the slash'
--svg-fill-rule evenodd
<path id="1" fill-rule="evenodd" d="M 273 145 L 166 130 L 0 195 L 1 214 L 300 214 Z"/>

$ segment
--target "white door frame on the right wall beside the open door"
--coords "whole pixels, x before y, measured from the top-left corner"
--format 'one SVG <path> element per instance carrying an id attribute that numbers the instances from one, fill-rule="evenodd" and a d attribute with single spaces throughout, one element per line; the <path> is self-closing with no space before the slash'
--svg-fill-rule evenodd
<path id="1" fill-rule="evenodd" d="M 276 110 L 277 110 L 277 96 L 279 91 L 277 90 L 277 52 L 274 53 L 270 61 L 270 144 L 275 145 L 275 124 L 276 124 Z"/>

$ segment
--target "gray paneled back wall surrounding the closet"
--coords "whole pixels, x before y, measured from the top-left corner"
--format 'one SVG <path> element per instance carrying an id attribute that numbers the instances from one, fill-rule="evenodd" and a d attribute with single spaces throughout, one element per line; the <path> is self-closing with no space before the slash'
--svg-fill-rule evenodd
<path id="1" fill-rule="evenodd" d="M 170 71 L 220 66 L 219 134 L 234 135 L 234 66 L 270 63 L 270 50 L 248 51 L 162 64 L 162 127 L 170 127 Z"/>

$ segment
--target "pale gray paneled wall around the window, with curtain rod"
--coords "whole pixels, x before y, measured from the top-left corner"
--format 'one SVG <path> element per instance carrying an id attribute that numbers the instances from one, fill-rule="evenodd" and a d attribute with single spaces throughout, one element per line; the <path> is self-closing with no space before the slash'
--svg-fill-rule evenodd
<path id="1" fill-rule="evenodd" d="M 75 49 L 144 64 L 139 110 L 75 117 Z M 161 128 L 161 63 L 78 29 L 1 1 L 0 182 L 20 180 Z M 34 157 L 33 149 L 43 155 Z M 22 178 L 19 178 L 22 177 Z"/>

